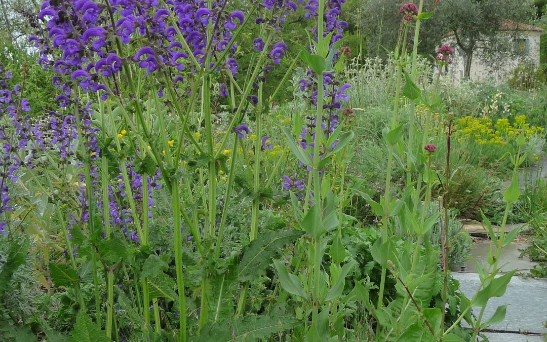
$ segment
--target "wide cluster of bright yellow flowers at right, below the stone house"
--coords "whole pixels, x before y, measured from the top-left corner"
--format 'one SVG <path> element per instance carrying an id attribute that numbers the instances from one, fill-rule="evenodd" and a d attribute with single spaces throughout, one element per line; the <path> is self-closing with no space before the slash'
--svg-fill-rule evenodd
<path id="1" fill-rule="evenodd" d="M 543 132 L 543 127 L 527 124 L 526 115 L 517 115 L 513 125 L 508 119 L 498 119 L 493 123 L 490 118 L 468 116 L 457 120 L 455 136 L 458 142 L 470 139 L 481 145 L 506 145 L 514 141 L 519 134 L 524 134 L 529 140 L 540 132 Z"/>

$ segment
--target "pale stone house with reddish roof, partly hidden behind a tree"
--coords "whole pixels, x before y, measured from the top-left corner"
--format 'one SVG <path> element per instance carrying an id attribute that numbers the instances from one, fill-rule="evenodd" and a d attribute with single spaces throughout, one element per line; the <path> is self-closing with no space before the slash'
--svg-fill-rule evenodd
<path id="1" fill-rule="evenodd" d="M 507 59 L 502 65 L 492 66 L 481 58 L 480 50 L 473 53 L 469 78 L 475 81 L 493 80 L 496 83 L 503 83 L 507 80 L 508 74 L 520 63 L 533 63 L 537 68 L 539 66 L 539 38 L 543 33 L 540 27 L 517 24 L 507 21 L 500 28 L 499 34 L 507 34 L 507 31 L 517 31 L 514 40 L 515 48 L 521 49 L 522 55 L 515 56 L 507 54 Z M 443 40 L 443 44 L 453 47 L 452 65 L 449 68 L 449 75 L 459 80 L 464 75 L 464 52 L 456 44 L 454 33 L 449 33 Z"/>

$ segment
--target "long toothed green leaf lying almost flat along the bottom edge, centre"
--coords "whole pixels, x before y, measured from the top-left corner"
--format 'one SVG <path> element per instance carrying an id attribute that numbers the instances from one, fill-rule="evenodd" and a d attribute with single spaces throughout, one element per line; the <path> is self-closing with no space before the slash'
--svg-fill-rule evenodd
<path id="1" fill-rule="evenodd" d="M 301 326 L 303 321 L 292 316 L 245 316 L 207 323 L 199 337 L 191 342 L 260 341 L 271 335 Z"/>

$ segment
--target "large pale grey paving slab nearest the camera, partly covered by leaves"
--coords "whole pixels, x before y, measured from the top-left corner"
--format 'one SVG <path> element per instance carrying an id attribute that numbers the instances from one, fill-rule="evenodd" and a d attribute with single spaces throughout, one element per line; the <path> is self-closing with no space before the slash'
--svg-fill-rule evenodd
<path id="1" fill-rule="evenodd" d="M 472 298 L 480 286 L 479 275 L 476 273 L 452 273 L 459 281 L 459 288 L 466 297 Z M 527 331 L 530 333 L 547 333 L 547 279 L 523 279 L 514 276 L 507 286 L 503 297 L 493 297 L 488 300 L 483 315 L 484 320 L 490 318 L 499 305 L 509 304 L 505 320 L 489 327 L 496 330 Z M 480 309 L 473 308 L 475 315 Z M 529 338 L 529 340 L 532 337 Z M 492 340 L 494 341 L 494 340 Z"/>

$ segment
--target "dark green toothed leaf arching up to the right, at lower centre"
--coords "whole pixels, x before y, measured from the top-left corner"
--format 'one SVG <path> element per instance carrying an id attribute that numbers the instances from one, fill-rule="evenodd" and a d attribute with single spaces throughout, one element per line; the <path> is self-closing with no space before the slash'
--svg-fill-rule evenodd
<path id="1" fill-rule="evenodd" d="M 296 241 L 303 231 L 295 229 L 266 231 L 243 248 L 243 257 L 238 265 L 239 281 L 251 281 L 266 272 L 279 248 Z"/>

